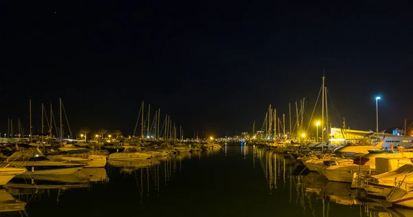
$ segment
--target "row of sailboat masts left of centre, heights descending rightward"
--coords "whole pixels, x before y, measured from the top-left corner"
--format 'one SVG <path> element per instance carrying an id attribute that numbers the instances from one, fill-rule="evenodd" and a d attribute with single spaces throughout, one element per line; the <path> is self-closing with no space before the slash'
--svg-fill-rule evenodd
<path id="1" fill-rule="evenodd" d="M 171 119 L 171 116 L 165 114 L 165 121 L 162 121 L 161 125 L 161 116 L 160 116 L 160 109 L 155 110 L 155 114 L 151 120 L 151 105 L 148 105 L 148 113 L 145 116 L 145 103 L 142 101 L 140 105 L 140 110 L 138 113 L 138 118 L 136 120 L 134 136 L 136 136 L 136 130 L 138 128 L 138 123 L 140 121 L 140 138 L 156 138 L 156 139 L 178 139 L 177 137 L 177 130 L 178 125 L 176 125 L 175 121 Z M 182 126 L 179 125 L 179 139 L 184 138 L 184 131 L 182 130 Z"/>

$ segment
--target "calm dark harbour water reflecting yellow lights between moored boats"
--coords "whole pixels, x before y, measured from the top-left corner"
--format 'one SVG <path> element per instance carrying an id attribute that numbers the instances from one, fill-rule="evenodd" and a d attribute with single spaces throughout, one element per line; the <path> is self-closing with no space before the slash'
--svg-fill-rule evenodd
<path id="1" fill-rule="evenodd" d="M 105 169 L 89 169 L 60 182 L 12 180 L 0 189 L 0 214 L 413 216 L 411 210 L 387 209 L 383 201 L 357 200 L 350 185 L 328 182 L 303 169 L 286 155 L 251 145 L 179 154 L 152 165 L 111 162 Z M 84 177 L 97 182 L 84 183 Z"/>

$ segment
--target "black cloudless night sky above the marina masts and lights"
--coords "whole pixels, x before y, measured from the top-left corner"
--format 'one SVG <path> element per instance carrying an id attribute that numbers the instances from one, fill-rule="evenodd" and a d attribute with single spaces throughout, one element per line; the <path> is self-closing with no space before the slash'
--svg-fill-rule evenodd
<path id="1" fill-rule="evenodd" d="M 307 97 L 310 113 L 324 69 L 333 126 L 346 117 L 348 127 L 374 130 L 377 94 L 381 130 L 413 120 L 408 6 L 127 2 L 1 7 L 0 132 L 8 117 L 28 129 L 29 99 L 39 129 L 41 103 L 57 109 L 59 97 L 74 132 L 132 134 L 142 100 L 186 136 L 249 132 L 268 104 L 288 113 Z"/>

